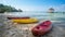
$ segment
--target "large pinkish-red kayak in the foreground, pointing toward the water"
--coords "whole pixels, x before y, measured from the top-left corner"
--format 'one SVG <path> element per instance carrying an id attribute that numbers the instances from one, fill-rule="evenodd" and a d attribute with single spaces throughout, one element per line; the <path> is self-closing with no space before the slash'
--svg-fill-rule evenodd
<path id="1" fill-rule="evenodd" d="M 49 33 L 51 30 L 51 28 L 52 28 L 51 22 L 46 21 L 46 22 L 42 22 L 41 24 L 35 26 L 31 29 L 31 33 L 35 36 L 41 36 L 41 35 Z"/>

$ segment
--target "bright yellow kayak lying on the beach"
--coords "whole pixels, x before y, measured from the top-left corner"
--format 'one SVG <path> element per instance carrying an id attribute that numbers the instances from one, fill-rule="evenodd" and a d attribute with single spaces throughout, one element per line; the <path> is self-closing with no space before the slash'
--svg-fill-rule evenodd
<path id="1" fill-rule="evenodd" d="M 22 20 L 12 20 L 14 23 L 23 23 L 23 24 L 30 24 L 30 23 L 37 23 L 37 18 L 22 18 Z"/>

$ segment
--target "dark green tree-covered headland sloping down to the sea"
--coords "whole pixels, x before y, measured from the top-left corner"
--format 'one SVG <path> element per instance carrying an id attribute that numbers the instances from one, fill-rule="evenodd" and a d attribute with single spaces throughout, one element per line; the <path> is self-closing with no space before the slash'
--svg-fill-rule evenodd
<path id="1" fill-rule="evenodd" d="M 23 12 L 23 11 L 21 9 L 17 10 L 11 5 L 0 4 L 0 13 L 4 12 Z"/>

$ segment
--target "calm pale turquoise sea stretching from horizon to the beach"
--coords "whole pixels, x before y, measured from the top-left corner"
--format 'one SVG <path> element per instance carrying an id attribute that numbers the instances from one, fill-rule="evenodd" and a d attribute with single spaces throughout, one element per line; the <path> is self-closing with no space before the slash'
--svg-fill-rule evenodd
<path id="1" fill-rule="evenodd" d="M 54 12 L 54 13 L 48 13 L 48 12 L 11 12 L 9 15 L 15 15 L 15 16 L 30 16 L 30 17 L 37 17 L 38 20 L 51 20 L 51 21 L 65 21 L 65 13 L 63 12 Z"/>

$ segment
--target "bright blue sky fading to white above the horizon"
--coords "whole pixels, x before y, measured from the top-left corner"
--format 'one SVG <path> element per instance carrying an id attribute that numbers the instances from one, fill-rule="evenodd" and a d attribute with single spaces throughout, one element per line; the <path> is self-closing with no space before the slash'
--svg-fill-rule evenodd
<path id="1" fill-rule="evenodd" d="M 0 0 L 0 3 L 11 5 L 23 11 L 65 11 L 65 0 Z"/>

